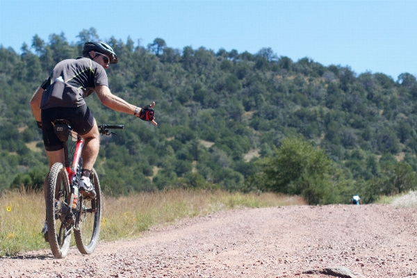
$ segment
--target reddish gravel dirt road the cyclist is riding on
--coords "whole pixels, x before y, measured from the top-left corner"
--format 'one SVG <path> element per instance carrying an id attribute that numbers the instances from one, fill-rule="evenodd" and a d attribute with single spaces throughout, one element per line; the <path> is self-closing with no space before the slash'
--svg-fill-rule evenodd
<path id="1" fill-rule="evenodd" d="M 330 278 L 316 271 L 327 267 L 417 277 L 416 228 L 416 209 L 387 205 L 223 211 L 99 243 L 90 256 L 72 248 L 60 260 L 48 250 L 1 258 L 0 277 Z"/>

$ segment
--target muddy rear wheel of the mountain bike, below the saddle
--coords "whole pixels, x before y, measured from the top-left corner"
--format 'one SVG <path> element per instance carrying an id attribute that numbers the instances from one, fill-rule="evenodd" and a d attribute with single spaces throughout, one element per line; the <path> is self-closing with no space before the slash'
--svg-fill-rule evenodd
<path id="1" fill-rule="evenodd" d="M 70 249 L 72 215 L 71 190 L 67 171 L 62 163 L 51 167 L 47 188 L 47 222 L 49 245 L 57 259 L 67 256 Z"/>

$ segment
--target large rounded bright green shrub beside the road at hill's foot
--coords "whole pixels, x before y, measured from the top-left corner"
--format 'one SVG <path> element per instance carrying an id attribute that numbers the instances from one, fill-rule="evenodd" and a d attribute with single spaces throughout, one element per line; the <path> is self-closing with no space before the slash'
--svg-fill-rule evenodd
<path id="1" fill-rule="evenodd" d="M 336 164 L 320 148 L 302 138 L 285 138 L 274 157 L 259 161 L 262 172 L 248 182 L 264 190 L 302 195 L 309 204 L 338 202 L 334 177 L 340 172 Z"/>

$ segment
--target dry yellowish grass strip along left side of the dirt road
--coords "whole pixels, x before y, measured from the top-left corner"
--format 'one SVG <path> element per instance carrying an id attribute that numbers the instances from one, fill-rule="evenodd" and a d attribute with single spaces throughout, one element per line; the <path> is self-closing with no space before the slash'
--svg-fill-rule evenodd
<path id="1" fill-rule="evenodd" d="M 100 240 L 140 236 L 158 224 L 234 208 L 306 204 L 301 197 L 273 193 L 228 193 L 222 190 L 163 190 L 124 197 L 104 196 Z M 43 193 L 10 190 L 0 195 L 0 256 L 49 248 L 40 233 Z M 74 245 L 74 241 L 72 241 Z"/>

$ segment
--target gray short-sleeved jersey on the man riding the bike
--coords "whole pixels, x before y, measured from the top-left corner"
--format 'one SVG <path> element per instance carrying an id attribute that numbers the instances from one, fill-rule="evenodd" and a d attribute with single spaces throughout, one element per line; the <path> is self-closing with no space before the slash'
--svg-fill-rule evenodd
<path id="1" fill-rule="evenodd" d="M 79 107 L 85 104 L 97 85 L 108 86 L 106 71 L 89 58 L 63 60 L 56 64 L 51 76 L 42 84 L 41 109 Z"/>

